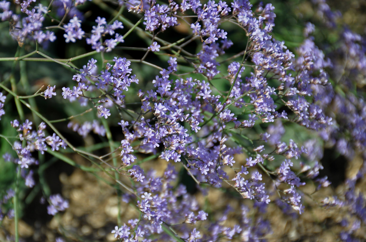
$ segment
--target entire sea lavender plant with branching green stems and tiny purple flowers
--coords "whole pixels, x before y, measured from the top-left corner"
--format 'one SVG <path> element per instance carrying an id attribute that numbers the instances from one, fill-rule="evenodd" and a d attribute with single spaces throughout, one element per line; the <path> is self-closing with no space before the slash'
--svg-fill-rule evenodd
<path id="1" fill-rule="evenodd" d="M 91 21 L 93 4 L 103 15 Z M 0 117 L 9 120 L 2 126 L 13 135 L 0 137 L 12 148 L 3 160 L 16 169 L 0 211 L 1 220 L 14 217 L 14 239 L 26 187 L 41 184 L 49 215 L 70 205 L 42 179 L 45 154 L 104 174 L 119 206 L 131 205 L 137 216 L 124 220 L 118 211 L 110 228 L 119 241 L 267 241 L 271 204 L 294 218 L 311 206 L 344 209 L 339 238 L 357 239 L 366 222 L 356 189 L 365 165 L 338 196 L 311 203 L 311 193 L 331 183 L 319 175 L 325 147 L 347 160 L 366 157 L 365 100 L 357 88 L 349 91 L 366 75 L 365 39 L 339 30 L 340 14 L 325 1 L 313 7 L 324 28 L 341 31 L 332 59 L 315 44 L 313 23 L 303 26 L 296 48 L 277 40 L 271 3 L 0 1 L 1 21 L 18 44 L 15 57 L 0 58 L 13 63 L 0 83 Z M 59 59 L 54 44 L 85 53 Z M 70 81 L 29 93 L 28 62 L 62 66 Z M 39 96 L 54 109 L 77 111 L 54 119 L 37 108 Z M 90 119 L 82 122 L 84 115 Z M 102 153 L 68 138 L 91 133 L 106 141 Z M 70 159 L 74 153 L 89 165 Z M 207 202 L 212 191 L 235 205 L 215 211 Z"/>

